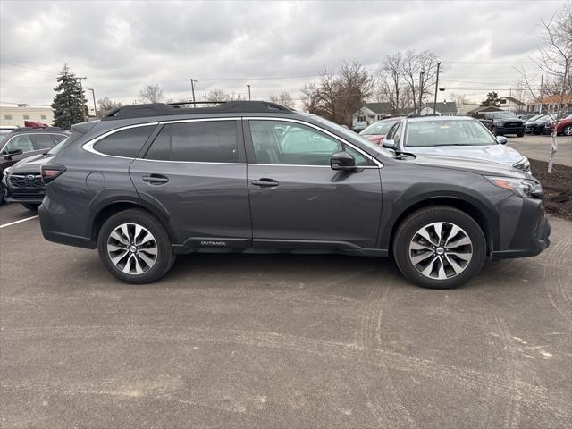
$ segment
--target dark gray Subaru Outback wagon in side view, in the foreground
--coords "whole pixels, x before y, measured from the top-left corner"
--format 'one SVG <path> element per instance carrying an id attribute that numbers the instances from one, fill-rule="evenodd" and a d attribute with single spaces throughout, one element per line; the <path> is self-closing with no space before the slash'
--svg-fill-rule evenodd
<path id="1" fill-rule="evenodd" d="M 542 189 L 484 161 L 395 155 L 332 122 L 265 102 L 130 105 L 73 127 L 42 167 L 47 240 L 97 248 L 124 282 L 190 252 L 392 256 L 452 288 L 487 257 L 549 244 Z"/>

